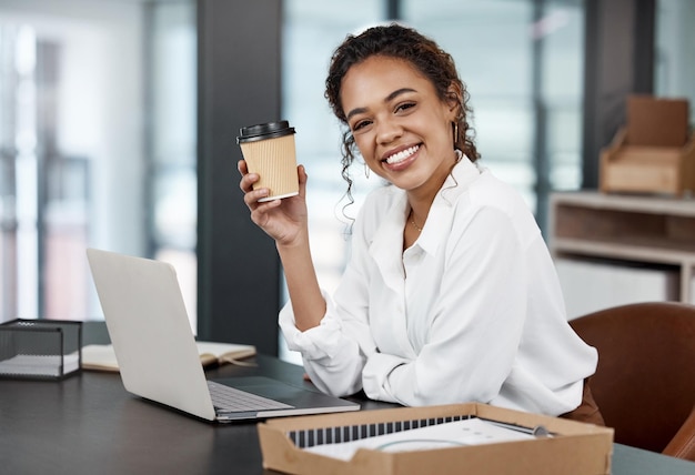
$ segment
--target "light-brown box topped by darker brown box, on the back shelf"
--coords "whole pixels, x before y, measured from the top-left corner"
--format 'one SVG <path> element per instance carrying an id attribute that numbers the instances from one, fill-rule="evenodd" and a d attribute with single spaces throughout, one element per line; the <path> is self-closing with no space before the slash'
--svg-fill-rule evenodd
<path id="1" fill-rule="evenodd" d="M 603 192 L 695 193 L 695 134 L 688 138 L 688 102 L 633 95 L 627 125 L 601 151 Z"/>

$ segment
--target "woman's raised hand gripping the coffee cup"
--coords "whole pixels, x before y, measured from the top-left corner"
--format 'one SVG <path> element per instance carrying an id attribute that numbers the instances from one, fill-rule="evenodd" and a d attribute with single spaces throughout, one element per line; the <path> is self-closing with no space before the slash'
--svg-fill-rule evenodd
<path id="1" fill-rule="evenodd" d="M 239 186 L 244 192 L 244 203 L 251 210 L 251 221 L 275 240 L 278 245 L 291 246 L 308 236 L 306 213 L 306 172 L 304 165 L 296 168 L 299 176 L 299 194 L 282 200 L 259 202 L 268 196 L 268 189 L 253 190 L 259 175 L 249 173 L 245 160 L 238 163 L 241 181 Z"/>

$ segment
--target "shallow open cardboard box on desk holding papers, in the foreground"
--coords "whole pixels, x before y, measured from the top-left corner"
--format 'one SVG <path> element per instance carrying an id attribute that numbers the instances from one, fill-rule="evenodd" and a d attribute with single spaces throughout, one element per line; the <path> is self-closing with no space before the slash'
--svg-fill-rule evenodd
<path id="1" fill-rule="evenodd" d="M 553 436 L 410 452 L 361 448 L 350 461 L 310 453 L 293 442 L 305 441 L 304 431 L 330 428 L 344 437 L 353 434 L 361 438 L 362 427 L 372 424 L 405 427 L 413 421 L 441 423 L 453 416 L 479 416 L 524 427 L 543 425 Z M 479 403 L 276 418 L 260 423 L 258 429 L 263 467 L 298 475 L 610 474 L 613 453 L 612 428 Z"/>

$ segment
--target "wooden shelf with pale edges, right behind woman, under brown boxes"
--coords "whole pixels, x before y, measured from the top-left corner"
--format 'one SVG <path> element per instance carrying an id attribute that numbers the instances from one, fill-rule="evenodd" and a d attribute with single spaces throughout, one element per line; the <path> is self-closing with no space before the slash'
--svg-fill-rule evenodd
<path id="1" fill-rule="evenodd" d="M 673 265 L 681 301 L 691 301 L 695 200 L 600 192 L 551 195 L 550 246 L 560 257 L 604 257 Z"/>

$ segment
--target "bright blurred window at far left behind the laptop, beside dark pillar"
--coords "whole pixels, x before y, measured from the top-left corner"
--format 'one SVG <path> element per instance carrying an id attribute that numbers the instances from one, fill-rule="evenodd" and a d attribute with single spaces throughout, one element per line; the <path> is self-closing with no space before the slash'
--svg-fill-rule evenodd
<path id="1" fill-rule="evenodd" d="M 194 7 L 0 6 L 0 322 L 100 319 L 87 246 L 195 295 Z"/>

